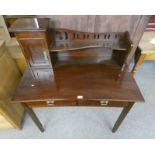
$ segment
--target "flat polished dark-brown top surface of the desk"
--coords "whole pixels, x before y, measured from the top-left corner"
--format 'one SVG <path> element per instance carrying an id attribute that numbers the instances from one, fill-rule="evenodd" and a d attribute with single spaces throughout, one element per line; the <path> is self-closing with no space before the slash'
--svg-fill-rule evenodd
<path id="1" fill-rule="evenodd" d="M 52 69 L 27 69 L 14 94 L 13 101 L 106 99 L 111 101 L 144 101 L 130 73 L 117 80 L 117 71 L 102 65 L 72 65 Z"/>

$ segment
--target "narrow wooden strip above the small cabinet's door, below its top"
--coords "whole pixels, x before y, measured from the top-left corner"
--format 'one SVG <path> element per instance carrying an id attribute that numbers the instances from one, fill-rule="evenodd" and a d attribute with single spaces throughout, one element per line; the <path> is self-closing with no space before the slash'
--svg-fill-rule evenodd
<path id="1" fill-rule="evenodd" d="M 18 39 L 24 38 L 46 38 L 44 32 L 18 32 L 15 33 Z"/>

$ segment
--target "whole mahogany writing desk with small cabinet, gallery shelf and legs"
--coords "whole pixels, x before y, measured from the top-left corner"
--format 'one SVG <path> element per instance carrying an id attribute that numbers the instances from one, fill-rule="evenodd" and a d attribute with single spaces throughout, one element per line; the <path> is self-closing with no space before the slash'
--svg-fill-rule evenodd
<path id="1" fill-rule="evenodd" d="M 128 33 L 51 31 L 47 23 L 47 19 L 19 19 L 10 28 L 29 64 L 13 101 L 21 102 L 42 132 L 32 108 L 123 107 L 115 132 L 133 104 L 144 101 L 128 72 L 126 60 L 132 48 Z"/>

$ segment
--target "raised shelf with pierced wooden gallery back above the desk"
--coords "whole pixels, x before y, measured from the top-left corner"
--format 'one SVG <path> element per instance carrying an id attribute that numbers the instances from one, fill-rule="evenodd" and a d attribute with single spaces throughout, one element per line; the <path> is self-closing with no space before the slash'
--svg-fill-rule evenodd
<path id="1" fill-rule="evenodd" d="M 113 50 L 126 51 L 132 42 L 128 32 L 88 33 L 65 29 L 53 32 L 50 51 L 63 52 L 86 48 L 106 47 Z"/>

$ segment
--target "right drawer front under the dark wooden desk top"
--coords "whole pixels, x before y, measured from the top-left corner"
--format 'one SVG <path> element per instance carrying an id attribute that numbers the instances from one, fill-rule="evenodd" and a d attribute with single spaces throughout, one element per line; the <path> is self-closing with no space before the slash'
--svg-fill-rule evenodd
<path id="1" fill-rule="evenodd" d="M 101 107 L 126 107 L 129 102 L 107 101 L 107 100 L 81 100 L 79 106 L 101 106 Z"/>

